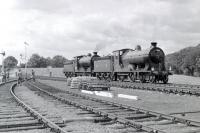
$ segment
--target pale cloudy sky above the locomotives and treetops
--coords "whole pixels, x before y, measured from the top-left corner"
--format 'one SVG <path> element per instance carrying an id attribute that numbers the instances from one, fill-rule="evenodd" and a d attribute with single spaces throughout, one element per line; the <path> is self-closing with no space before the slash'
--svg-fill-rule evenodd
<path id="1" fill-rule="evenodd" d="M 200 43 L 199 0 L 1 0 L 0 53 L 67 59 L 158 42 L 166 54 Z M 0 62 L 2 56 L 0 55 Z M 0 63 L 1 64 L 1 63 Z"/>

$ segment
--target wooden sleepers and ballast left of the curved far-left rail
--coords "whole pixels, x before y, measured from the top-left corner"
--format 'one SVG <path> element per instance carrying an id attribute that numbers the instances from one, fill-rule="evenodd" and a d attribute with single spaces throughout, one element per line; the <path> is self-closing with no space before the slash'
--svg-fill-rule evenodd
<path id="1" fill-rule="evenodd" d="M 0 87 L 0 132 L 42 128 L 42 124 L 19 107 L 9 92 L 12 83 Z"/>

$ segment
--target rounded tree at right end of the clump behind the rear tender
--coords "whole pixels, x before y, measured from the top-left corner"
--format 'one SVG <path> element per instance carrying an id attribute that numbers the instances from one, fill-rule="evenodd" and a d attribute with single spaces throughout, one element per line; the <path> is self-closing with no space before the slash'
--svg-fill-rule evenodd
<path id="1" fill-rule="evenodd" d="M 56 55 L 52 58 L 52 67 L 63 67 L 67 59 L 61 55 Z"/>

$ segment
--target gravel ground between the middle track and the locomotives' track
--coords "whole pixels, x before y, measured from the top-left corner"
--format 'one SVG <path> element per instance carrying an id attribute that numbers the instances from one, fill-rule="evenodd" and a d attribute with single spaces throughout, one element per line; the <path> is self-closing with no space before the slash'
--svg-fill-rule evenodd
<path id="1" fill-rule="evenodd" d="M 67 84 L 62 81 L 48 81 L 48 80 L 40 80 L 40 81 L 62 90 L 69 89 L 69 87 L 67 87 Z M 76 89 L 70 89 L 70 90 L 81 93 Z M 130 89 L 122 89 L 116 87 L 111 88 L 111 93 L 114 94 L 115 96 L 114 98 L 106 98 L 85 93 L 81 94 L 92 97 L 98 97 L 100 99 L 106 99 L 118 103 L 133 105 L 139 108 L 165 114 L 200 111 L 200 98 L 195 96 L 179 96 L 174 94 L 165 94 L 160 92 L 143 91 L 143 90 L 130 90 Z M 120 93 L 138 96 L 139 100 L 135 101 L 135 100 L 128 100 L 116 97 L 116 95 Z M 183 117 L 181 115 L 179 116 Z M 184 118 L 200 121 L 200 113 L 191 113 L 184 116 Z"/>

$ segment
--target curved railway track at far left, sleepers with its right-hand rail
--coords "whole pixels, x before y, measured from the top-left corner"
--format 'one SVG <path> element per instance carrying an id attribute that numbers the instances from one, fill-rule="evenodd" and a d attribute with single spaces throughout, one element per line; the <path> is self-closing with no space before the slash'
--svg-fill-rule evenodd
<path id="1" fill-rule="evenodd" d="M 15 94 L 13 81 L 0 86 L 0 132 L 19 132 L 48 128 L 56 133 L 65 133 L 50 119 L 45 118 Z"/>

